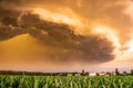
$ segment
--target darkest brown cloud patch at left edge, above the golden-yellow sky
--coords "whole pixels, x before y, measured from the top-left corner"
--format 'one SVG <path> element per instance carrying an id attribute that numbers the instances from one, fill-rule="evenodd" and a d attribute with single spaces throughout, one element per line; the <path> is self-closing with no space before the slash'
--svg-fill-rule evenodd
<path id="1" fill-rule="evenodd" d="M 25 30 L 18 26 L 19 11 L 0 8 L 0 41 L 25 33 Z"/>

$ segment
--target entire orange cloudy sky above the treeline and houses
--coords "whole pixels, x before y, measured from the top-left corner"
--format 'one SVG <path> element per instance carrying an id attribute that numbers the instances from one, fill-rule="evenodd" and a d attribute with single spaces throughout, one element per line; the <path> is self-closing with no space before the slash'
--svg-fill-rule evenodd
<path id="1" fill-rule="evenodd" d="M 0 69 L 133 68 L 133 0 L 0 0 Z"/>

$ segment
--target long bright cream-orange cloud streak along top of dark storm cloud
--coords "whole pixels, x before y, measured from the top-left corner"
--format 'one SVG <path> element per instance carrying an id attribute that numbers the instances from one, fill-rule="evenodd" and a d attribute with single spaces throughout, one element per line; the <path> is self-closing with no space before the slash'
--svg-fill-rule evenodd
<path id="1" fill-rule="evenodd" d="M 47 21 L 50 21 L 50 22 L 64 23 L 64 24 L 74 25 L 74 26 L 81 26 L 82 25 L 82 23 L 79 20 L 70 19 L 64 14 L 52 13 L 52 12 L 47 11 L 44 9 L 39 9 L 39 8 L 34 9 L 33 13 L 39 14 L 40 19 L 47 20 Z"/>

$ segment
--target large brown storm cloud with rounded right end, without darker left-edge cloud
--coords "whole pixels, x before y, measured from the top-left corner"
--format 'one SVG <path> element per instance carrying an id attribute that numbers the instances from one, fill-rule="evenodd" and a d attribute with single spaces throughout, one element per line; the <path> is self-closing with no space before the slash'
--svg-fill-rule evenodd
<path id="1" fill-rule="evenodd" d="M 99 35 L 76 35 L 71 25 L 40 20 L 30 13 L 21 16 L 20 26 L 29 28 L 29 34 L 49 46 L 50 59 L 58 62 L 108 62 L 114 58 L 112 43 Z"/>

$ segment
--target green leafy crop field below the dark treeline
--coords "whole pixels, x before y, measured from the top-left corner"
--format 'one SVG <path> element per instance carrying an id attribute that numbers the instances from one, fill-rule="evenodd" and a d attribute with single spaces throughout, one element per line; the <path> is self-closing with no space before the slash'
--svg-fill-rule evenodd
<path id="1" fill-rule="evenodd" d="M 133 88 L 133 76 L 0 75 L 0 88 Z"/>

